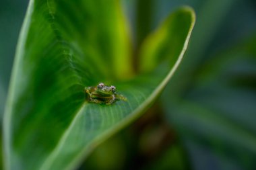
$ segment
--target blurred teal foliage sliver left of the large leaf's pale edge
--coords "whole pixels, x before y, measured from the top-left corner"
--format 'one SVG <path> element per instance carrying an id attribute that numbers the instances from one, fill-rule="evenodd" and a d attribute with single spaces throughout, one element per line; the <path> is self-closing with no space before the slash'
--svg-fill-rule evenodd
<path id="1" fill-rule="evenodd" d="M 3 120 L 3 108 L 6 101 L 7 87 L 11 75 L 11 66 L 15 45 L 22 18 L 26 11 L 27 0 L 0 1 L 0 120 Z M 9 10 L 11 9 L 11 10 Z M 13 12 L 15 11 L 15 12 Z"/>

